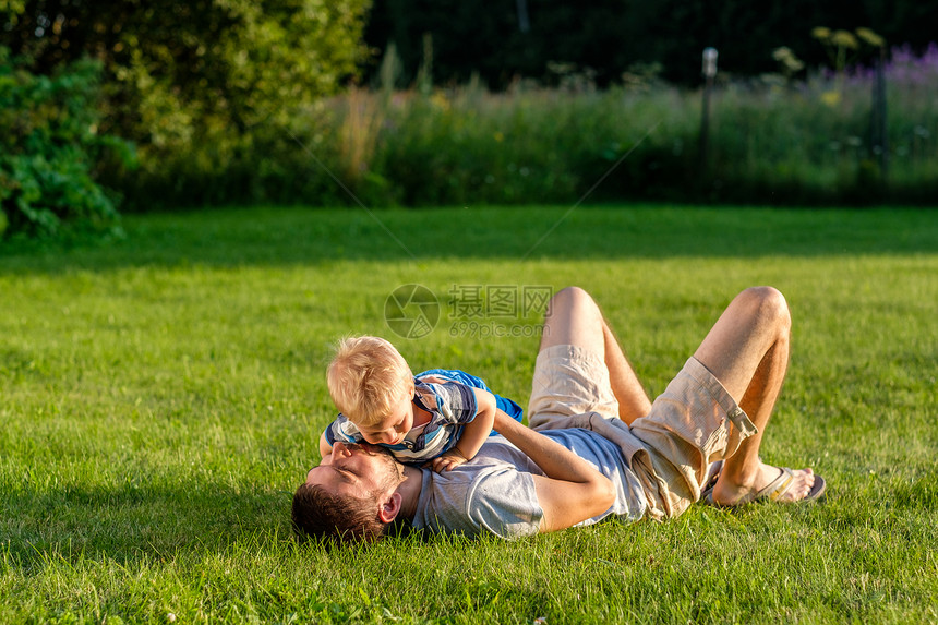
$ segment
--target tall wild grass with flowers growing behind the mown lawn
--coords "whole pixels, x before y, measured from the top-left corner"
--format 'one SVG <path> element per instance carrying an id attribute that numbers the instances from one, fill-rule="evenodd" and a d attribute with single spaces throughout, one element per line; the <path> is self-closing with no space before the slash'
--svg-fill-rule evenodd
<path id="1" fill-rule="evenodd" d="M 141 146 L 140 168 L 106 178 L 125 212 L 350 204 L 330 172 L 370 206 L 573 204 L 600 180 L 591 195 L 606 202 L 928 206 L 938 197 L 938 45 L 889 56 L 885 111 L 862 67 L 796 81 L 720 74 L 706 149 L 699 89 L 651 70 L 606 89 L 574 73 L 555 88 L 520 81 L 502 93 L 479 81 L 350 89 L 244 135 L 220 124 Z"/>

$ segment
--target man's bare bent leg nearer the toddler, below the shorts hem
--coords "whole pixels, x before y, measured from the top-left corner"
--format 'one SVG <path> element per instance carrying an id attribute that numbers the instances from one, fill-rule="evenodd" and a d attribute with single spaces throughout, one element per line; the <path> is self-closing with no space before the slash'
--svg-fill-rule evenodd
<path id="1" fill-rule="evenodd" d="M 544 318 L 541 349 L 554 345 L 575 345 L 594 352 L 605 361 L 610 385 L 618 400 L 618 416 L 628 424 L 651 410 L 635 371 L 625 358 L 596 301 L 578 287 L 567 287 L 551 299 Z"/>

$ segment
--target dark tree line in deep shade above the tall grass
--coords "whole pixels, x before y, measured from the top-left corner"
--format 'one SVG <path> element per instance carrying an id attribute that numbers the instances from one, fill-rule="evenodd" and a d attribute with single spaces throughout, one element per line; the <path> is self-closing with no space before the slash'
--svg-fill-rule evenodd
<path id="1" fill-rule="evenodd" d="M 365 39 L 375 50 L 395 45 L 402 82 L 417 75 L 429 33 L 436 83 L 473 72 L 494 88 L 518 76 L 550 83 L 553 62 L 589 68 L 600 85 L 660 63 L 664 79 L 693 85 L 708 46 L 722 70 L 751 75 L 777 70 L 781 46 L 808 67 L 826 62 L 810 34 L 818 26 L 867 27 L 921 49 L 938 38 L 936 24 L 936 0 L 374 0 Z"/>

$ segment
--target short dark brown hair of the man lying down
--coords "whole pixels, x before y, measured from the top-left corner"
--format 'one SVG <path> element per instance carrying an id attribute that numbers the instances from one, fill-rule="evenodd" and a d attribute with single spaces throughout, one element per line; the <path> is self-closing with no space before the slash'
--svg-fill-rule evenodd
<path id="1" fill-rule="evenodd" d="M 327 492 L 318 484 L 301 484 L 293 493 L 293 531 L 300 542 L 374 542 L 387 534 L 374 500 Z"/>

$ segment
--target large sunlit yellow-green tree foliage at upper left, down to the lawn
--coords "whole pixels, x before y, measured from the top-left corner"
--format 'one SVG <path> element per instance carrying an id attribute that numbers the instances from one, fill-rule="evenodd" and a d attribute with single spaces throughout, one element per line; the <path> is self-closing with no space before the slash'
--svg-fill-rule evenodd
<path id="1" fill-rule="evenodd" d="M 136 170 L 112 163 L 99 172 L 128 188 L 127 208 L 148 208 L 153 199 L 228 202 L 254 195 L 258 161 L 289 136 L 297 110 L 313 109 L 357 73 L 366 5 L 25 0 L 0 4 L 0 41 L 39 75 L 85 56 L 100 61 L 99 131 L 134 142 L 140 154 Z M 206 180 L 223 192 L 191 187 Z"/>

